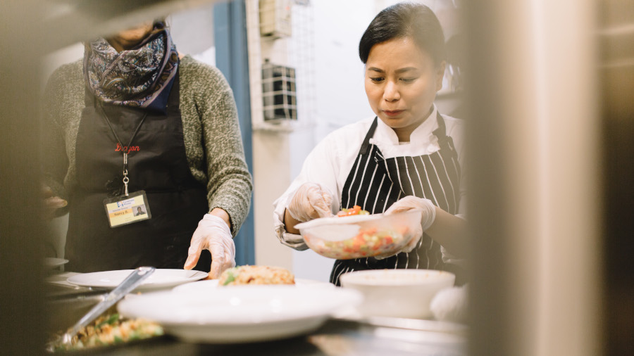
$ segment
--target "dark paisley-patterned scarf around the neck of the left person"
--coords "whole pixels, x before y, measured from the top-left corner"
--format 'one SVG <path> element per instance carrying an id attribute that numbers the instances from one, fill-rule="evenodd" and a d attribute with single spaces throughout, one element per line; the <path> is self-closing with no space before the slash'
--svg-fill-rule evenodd
<path id="1" fill-rule="evenodd" d="M 117 52 L 104 38 L 85 44 L 87 88 L 104 103 L 165 111 L 178 52 L 163 23 L 133 49 Z"/>

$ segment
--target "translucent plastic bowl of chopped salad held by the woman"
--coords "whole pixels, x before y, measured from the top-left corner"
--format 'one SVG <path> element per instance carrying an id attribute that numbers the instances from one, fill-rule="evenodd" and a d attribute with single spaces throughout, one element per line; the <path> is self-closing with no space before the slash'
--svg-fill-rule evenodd
<path id="1" fill-rule="evenodd" d="M 349 260 L 399 252 L 414 238 L 421 214 L 421 210 L 409 210 L 392 215 L 323 217 L 295 227 L 311 250 L 327 258 Z"/>

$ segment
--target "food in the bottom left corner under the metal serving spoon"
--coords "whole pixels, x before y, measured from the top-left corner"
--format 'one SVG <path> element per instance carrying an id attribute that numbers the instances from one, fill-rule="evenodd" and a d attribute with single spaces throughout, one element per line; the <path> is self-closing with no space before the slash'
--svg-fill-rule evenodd
<path id="1" fill-rule="evenodd" d="M 163 328 L 145 319 L 123 319 L 119 314 L 104 314 L 81 329 L 70 345 L 55 345 L 55 351 L 81 350 L 116 345 L 163 335 Z"/>

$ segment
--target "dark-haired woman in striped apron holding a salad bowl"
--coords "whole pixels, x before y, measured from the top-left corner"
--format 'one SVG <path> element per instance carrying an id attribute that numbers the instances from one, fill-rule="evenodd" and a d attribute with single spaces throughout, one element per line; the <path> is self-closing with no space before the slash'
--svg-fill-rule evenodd
<path id="1" fill-rule="evenodd" d="M 444 44 L 428 7 L 397 4 L 381 11 L 359 44 L 376 117 L 328 135 L 275 202 L 278 238 L 298 250 L 306 246 L 294 225 L 340 208 L 359 205 L 372 214 L 423 210 L 424 232 L 415 245 L 380 259 L 337 260 L 330 274 L 334 284 L 342 274 L 363 269 L 459 272 L 447 256 L 464 250 L 465 222 L 456 216 L 464 209 L 464 189 L 454 145 L 454 139 L 461 141 L 462 124 L 433 105 L 445 72 Z"/>

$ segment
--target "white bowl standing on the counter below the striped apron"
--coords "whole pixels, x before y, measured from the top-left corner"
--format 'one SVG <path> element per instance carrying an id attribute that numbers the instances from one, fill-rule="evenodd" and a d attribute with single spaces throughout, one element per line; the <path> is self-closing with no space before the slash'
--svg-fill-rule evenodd
<path id="1" fill-rule="evenodd" d="M 341 285 L 363 294 L 357 307 L 363 316 L 429 319 L 430 303 L 456 276 L 433 269 L 374 269 L 342 274 Z"/>

